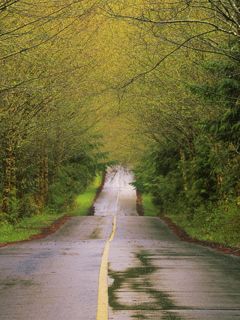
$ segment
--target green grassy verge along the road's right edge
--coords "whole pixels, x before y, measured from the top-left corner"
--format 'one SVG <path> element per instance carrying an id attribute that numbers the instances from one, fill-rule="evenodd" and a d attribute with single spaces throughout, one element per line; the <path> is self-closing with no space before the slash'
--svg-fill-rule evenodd
<path id="1" fill-rule="evenodd" d="M 154 204 L 151 194 L 142 194 L 142 206 L 144 216 L 160 216 L 160 210 Z M 181 207 L 180 204 L 179 207 Z M 198 208 L 191 219 L 183 209 L 179 214 L 166 213 L 165 216 L 193 239 L 240 248 L 239 207 L 234 201 L 229 200 L 228 203 L 219 204 L 218 207 L 212 207 L 209 210 Z"/>

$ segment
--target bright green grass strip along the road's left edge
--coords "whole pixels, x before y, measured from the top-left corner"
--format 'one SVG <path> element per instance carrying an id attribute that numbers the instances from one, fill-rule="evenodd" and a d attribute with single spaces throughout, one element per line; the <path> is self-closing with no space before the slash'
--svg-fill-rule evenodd
<path id="1" fill-rule="evenodd" d="M 101 185 L 102 177 L 98 175 L 94 182 L 86 191 L 76 197 L 74 209 L 70 210 L 69 215 L 84 216 L 95 198 L 96 192 Z M 63 217 L 66 213 L 50 212 L 46 210 L 41 214 L 22 219 L 17 224 L 0 224 L 0 243 L 10 243 L 15 241 L 27 240 L 30 237 L 41 233 L 43 228 L 51 226 L 57 219 Z"/>

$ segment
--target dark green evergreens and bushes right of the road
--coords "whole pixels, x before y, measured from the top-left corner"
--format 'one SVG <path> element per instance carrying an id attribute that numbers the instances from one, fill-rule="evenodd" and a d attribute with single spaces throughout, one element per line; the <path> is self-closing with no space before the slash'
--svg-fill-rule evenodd
<path id="1" fill-rule="evenodd" d="M 134 184 L 193 237 L 239 246 L 240 68 L 224 59 L 203 69 L 208 81 L 190 92 L 213 111 L 193 124 L 191 143 L 181 134 L 174 143 L 153 142 Z"/>

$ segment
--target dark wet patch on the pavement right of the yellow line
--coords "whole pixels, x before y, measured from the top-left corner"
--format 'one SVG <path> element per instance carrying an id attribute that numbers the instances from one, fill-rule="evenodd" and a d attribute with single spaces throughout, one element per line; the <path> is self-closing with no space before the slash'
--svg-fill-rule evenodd
<path id="1" fill-rule="evenodd" d="M 168 311 L 176 308 L 171 297 L 153 287 L 149 276 L 157 268 L 152 265 L 151 256 L 147 252 L 140 252 L 136 254 L 140 266 L 123 272 L 109 270 L 112 279 L 108 289 L 109 305 L 113 311 L 133 312 L 132 319 L 152 319 L 144 314 L 147 314 L 147 311 L 159 311 L 162 315 L 158 319 L 183 320 Z"/>

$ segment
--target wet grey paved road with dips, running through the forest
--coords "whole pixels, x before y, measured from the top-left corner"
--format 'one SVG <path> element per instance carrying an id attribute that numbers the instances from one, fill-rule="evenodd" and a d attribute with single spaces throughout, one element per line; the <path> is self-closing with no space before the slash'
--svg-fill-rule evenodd
<path id="1" fill-rule="evenodd" d="M 137 216 L 131 181 L 109 169 L 95 216 L 0 249 L 1 320 L 240 319 L 240 259 Z"/>

